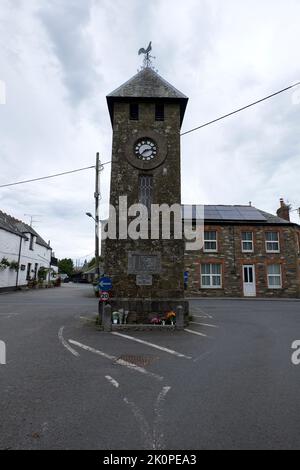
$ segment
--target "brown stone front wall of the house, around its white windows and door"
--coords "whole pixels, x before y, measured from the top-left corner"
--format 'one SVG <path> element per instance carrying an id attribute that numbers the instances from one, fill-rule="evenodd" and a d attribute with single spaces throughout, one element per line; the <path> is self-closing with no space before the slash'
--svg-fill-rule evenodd
<path id="1" fill-rule="evenodd" d="M 243 265 L 255 265 L 257 297 L 300 297 L 300 230 L 297 226 L 278 225 L 206 225 L 205 230 L 218 233 L 218 252 L 185 253 L 185 269 L 189 272 L 187 296 L 243 297 Z M 253 232 L 254 252 L 243 253 L 242 232 Z M 265 232 L 277 231 L 280 253 L 267 253 Z M 201 263 L 221 263 L 222 287 L 201 288 Z M 282 288 L 270 289 L 267 282 L 268 264 L 280 264 Z"/>

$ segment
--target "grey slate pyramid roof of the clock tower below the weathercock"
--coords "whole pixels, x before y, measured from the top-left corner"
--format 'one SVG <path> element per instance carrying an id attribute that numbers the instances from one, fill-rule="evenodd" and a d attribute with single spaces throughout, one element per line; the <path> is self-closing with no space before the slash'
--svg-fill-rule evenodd
<path id="1" fill-rule="evenodd" d="M 113 120 L 113 102 L 125 100 L 176 100 L 180 102 L 181 121 L 188 102 L 188 97 L 177 90 L 167 80 L 162 78 L 150 67 L 143 68 L 140 72 L 123 83 L 113 92 L 107 95 L 107 103 L 111 119 Z"/>

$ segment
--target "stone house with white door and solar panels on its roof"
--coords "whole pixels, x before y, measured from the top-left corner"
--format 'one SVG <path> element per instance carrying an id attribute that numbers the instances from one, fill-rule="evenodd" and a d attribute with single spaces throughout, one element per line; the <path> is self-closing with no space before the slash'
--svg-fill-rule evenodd
<path id="1" fill-rule="evenodd" d="M 192 206 L 184 217 L 193 220 Z M 186 296 L 300 297 L 300 226 L 252 206 L 205 206 L 204 246 L 185 252 Z"/>

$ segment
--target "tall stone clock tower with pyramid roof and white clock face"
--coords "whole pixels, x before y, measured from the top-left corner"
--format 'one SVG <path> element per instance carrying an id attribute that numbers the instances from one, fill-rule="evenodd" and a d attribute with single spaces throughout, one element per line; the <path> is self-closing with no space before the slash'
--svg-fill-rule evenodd
<path id="1" fill-rule="evenodd" d="M 172 217 L 170 239 L 162 237 L 161 222 L 158 230 L 151 233 L 150 228 L 153 204 L 181 204 L 180 128 L 187 101 L 149 61 L 107 96 L 113 127 L 110 204 L 118 222 L 116 237 L 105 241 L 105 273 L 112 278 L 112 306 L 128 310 L 129 321 L 145 322 L 178 305 L 188 310 L 183 300 L 184 240 L 174 237 Z M 138 203 L 149 215 L 141 238 L 133 239 L 126 228 L 136 219 L 132 206 Z"/>

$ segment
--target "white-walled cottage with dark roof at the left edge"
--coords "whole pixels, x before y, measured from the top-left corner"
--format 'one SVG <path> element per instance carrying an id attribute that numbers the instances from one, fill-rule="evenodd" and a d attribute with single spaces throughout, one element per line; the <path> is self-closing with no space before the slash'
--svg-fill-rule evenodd
<path id="1" fill-rule="evenodd" d="M 0 211 L 0 291 L 37 280 L 51 268 L 52 249 L 29 225 Z"/>

